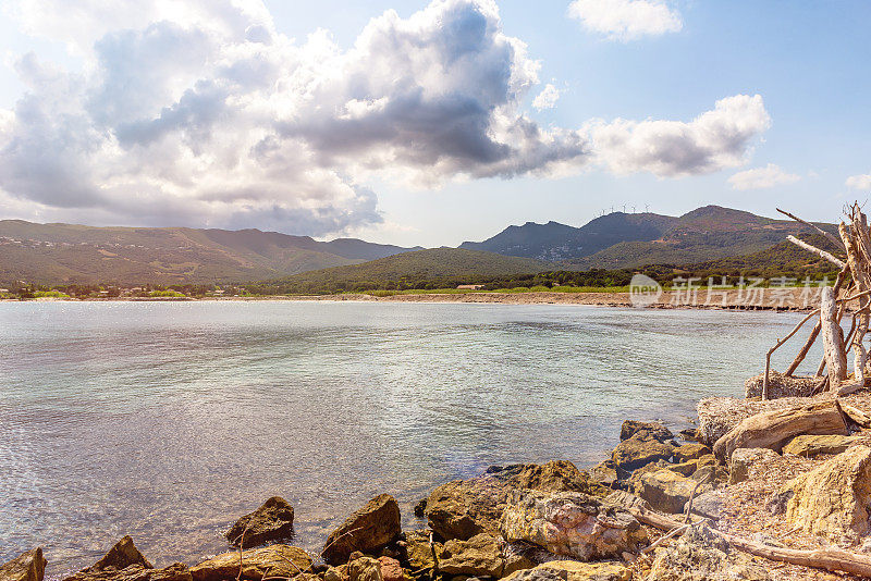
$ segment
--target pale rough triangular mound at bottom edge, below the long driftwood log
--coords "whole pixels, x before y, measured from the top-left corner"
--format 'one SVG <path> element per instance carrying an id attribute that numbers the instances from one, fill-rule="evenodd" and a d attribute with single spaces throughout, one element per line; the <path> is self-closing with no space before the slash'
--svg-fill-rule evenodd
<path id="1" fill-rule="evenodd" d="M 729 547 L 706 523 L 691 526 L 668 548 L 657 549 L 648 579 L 657 581 L 770 581 L 763 561 Z"/>

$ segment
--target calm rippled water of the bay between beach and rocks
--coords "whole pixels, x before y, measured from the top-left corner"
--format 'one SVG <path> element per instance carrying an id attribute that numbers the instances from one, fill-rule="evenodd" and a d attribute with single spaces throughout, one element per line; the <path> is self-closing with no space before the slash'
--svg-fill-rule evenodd
<path id="1" fill-rule="evenodd" d="M 381 492 L 415 527 L 413 504 L 444 481 L 494 463 L 592 465 L 626 418 L 685 427 L 698 398 L 741 394 L 799 319 L 550 305 L 0 304 L 0 561 L 42 545 L 60 576 L 131 534 L 156 565 L 194 564 L 224 551 L 229 524 L 275 494 L 296 508 L 296 544 L 307 548 Z"/>

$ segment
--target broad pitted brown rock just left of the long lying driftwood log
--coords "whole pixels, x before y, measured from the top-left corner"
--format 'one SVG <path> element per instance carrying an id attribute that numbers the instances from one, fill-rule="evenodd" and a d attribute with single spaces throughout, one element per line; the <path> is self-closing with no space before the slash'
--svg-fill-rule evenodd
<path id="1" fill-rule="evenodd" d="M 618 557 L 647 540 L 625 508 L 572 492 L 512 492 L 501 531 L 507 542 L 525 541 L 581 560 Z"/>

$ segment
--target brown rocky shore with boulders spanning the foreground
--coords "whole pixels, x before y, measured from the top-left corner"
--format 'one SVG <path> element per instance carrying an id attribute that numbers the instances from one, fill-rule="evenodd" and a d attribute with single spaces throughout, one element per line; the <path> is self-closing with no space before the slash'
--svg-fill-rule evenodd
<path id="1" fill-rule="evenodd" d="M 553 460 L 444 483 L 415 507 L 427 529 L 402 530 L 381 494 L 312 554 L 291 544 L 296 512 L 275 496 L 203 563 L 156 568 L 125 536 L 63 581 L 869 579 L 871 394 L 800 388 L 704 399 L 678 434 L 627 420 L 586 471 Z M 0 581 L 42 581 L 45 567 L 33 548 Z"/>

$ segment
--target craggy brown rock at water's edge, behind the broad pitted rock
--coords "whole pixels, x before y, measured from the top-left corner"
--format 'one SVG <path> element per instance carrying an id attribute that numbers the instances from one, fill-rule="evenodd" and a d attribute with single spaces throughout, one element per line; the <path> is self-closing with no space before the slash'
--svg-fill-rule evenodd
<path id="1" fill-rule="evenodd" d="M 523 489 L 594 496 L 610 492 L 565 460 L 491 467 L 481 477 L 455 480 L 433 490 L 427 499 L 429 526 L 445 540 L 467 540 L 482 532 L 496 534 L 508 493 Z"/>

